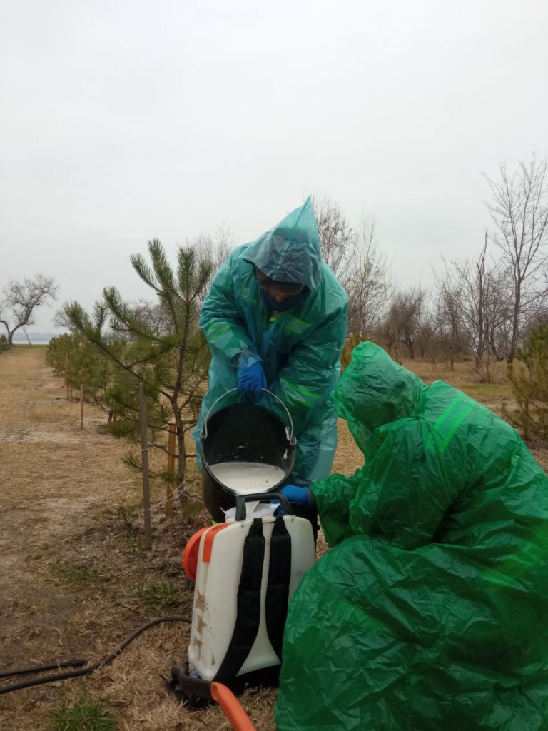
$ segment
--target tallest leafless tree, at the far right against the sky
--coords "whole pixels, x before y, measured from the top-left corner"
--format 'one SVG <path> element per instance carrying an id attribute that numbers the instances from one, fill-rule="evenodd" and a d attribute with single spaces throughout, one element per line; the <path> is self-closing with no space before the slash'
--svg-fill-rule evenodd
<path id="1" fill-rule="evenodd" d="M 502 163 L 498 180 L 484 177 L 491 189 L 491 199 L 485 205 L 496 227 L 492 240 L 503 253 L 512 281 L 507 354 L 512 363 L 522 329 L 539 311 L 545 297 L 539 276 L 547 261 L 547 161 L 540 162 L 533 155 L 528 164 L 520 162 L 519 170 L 512 175 Z"/>

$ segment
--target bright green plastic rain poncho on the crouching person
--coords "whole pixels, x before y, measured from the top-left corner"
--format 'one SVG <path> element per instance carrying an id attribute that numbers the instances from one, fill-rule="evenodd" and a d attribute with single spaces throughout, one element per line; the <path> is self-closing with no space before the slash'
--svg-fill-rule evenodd
<path id="1" fill-rule="evenodd" d="M 278 731 L 548 729 L 548 480 L 514 429 L 378 346 L 335 392 L 365 454 L 313 485 Z"/>

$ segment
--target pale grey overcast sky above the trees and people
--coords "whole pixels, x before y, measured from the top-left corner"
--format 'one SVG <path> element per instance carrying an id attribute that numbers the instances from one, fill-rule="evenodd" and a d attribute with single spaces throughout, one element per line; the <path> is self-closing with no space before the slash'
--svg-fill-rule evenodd
<path id="1" fill-rule="evenodd" d="M 148 239 L 244 243 L 309 192 L 429 284 L 482 246 L 481 173 L 547 154 L 547 31 L 546 0 L 3 0 L 0 287 L 147 297 Z"/>

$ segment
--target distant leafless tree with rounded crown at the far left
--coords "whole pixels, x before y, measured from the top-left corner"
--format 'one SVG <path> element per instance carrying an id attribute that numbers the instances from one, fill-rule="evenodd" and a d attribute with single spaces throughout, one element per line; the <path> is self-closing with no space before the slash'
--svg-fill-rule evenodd
<path id="1" fill-rule="evenodd" d="M 9 345 L 13 344 L 14 333 L 20 327 L 25 331 L 27 325 L 34 325 L 37 308 L 48 300 L 54 300 L 56 294 L 57 285 L 53 278 L 43 274 L 36 274 L 23 281 L 8 281 L 0 300 L 0 322 L 6 328 Z"/>

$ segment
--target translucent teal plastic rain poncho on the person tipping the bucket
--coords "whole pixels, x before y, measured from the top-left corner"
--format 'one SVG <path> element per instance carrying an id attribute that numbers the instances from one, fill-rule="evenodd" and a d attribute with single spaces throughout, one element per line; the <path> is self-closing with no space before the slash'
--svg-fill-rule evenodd
<path id="1" fill-rule="evenodd" d="M 302 282 L 308 294 L 288 311 L 269 310 L 259 292 L 256 265 L 271 279 Z M 237 384 L 237 369 L 262 362 L 268 389 L 289 409 L 297 437 L 292 480 L 308 484 L 330 474 L 337 442 L 337 413 L 329 395 L 339 374 L 348 298 L 321 261 L 310 198 L 254 243 L 240 246 L 218 270 L 199 321 L 213 360 L 209 390 L 194 439 L 215 401 Z M 254 399 L 232 393 L 216 408 Z M 287 422 L 275 399 L 256 401 Z M 197 449 L 199 453 L 199 447 Z"/>

